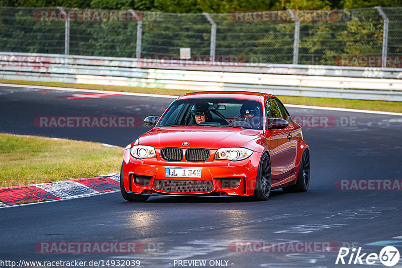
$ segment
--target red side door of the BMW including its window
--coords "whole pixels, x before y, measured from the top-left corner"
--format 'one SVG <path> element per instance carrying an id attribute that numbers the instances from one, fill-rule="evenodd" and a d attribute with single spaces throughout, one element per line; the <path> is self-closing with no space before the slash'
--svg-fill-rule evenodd
<path id="1" fill-rule="evenodd" d="M 267 118 L 282 118 L 289 124 L 282 129 L 268 129 L 267 143 L 271 157 L 272 183 L 277 183 L 293 173 L 297 154 L 298 131 L 292 123 L 289 113 L 276 98 L 266 100 Z"/>

